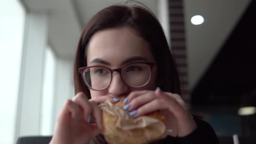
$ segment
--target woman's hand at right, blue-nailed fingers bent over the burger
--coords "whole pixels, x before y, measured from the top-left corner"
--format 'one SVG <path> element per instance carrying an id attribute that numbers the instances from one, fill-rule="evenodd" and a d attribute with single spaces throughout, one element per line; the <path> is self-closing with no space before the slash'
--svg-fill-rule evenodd
<path id="1" fill-rule="evenodd" d="M 180 95 L 170 92 L 161 92 L 160 88 L 155 91 L 135 91 L 128 95 L 126 110 L 135 118 L 160 110 L 167 119 L 168 135 L 184 137 L 192 133 L 197 124 L 185 106 Z"/>

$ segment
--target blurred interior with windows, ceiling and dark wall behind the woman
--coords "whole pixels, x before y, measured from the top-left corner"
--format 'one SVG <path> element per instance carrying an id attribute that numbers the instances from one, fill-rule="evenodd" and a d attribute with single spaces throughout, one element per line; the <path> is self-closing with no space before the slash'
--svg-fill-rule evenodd
<path id="1" fill-rule="evenodd" d="M 125 0 L 0 0 L 0 144 L 52 135 L 74 96 L 72 65 L 93 14 Z M 222 144 L 255 144 L 255 0 L 141 0 L 158 17 L 182 97 Z M 254 15 L 253 15 L 254 14 Z"/>

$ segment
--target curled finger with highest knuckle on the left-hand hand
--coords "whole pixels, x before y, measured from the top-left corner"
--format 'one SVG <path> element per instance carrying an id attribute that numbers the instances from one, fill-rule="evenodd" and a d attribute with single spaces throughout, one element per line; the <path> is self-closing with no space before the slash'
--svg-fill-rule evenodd
<path id="1" fill-rule="evenodd" d="M 82 108 L 84 119 L 87 121 L 88 116 L 92 113 L 92 105 L 88 101 L 86 95 L 83 92 L 79 92 L 77 95 L 75 95 L 73 101 Z"/>

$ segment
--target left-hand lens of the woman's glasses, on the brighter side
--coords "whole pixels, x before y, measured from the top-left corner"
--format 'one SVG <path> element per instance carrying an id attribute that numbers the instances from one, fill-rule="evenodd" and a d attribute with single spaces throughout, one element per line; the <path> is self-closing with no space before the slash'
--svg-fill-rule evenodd
<path id="1" fill-rule="evenodd" d="M 95 90 L 102 90 L 111 82 L 111 72 L 102 67 L 85 69 L 84 79 L 87 86 Z"/>

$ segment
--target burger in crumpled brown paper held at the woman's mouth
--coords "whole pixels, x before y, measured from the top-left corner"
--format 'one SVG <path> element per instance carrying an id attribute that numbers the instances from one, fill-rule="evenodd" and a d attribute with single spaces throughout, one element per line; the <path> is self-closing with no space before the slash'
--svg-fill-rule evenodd
<path id="1" fill-rule="evenodd" d="M 148 144 L 166 136 L 166 118 L 160 111 L 133 118 L 123 109 L 125 98 L 119 97 L 115 104 L 105 101 L 99 105 L 103 111 L 102 134 L 108 144 Z"/>

